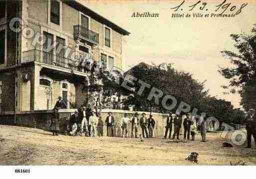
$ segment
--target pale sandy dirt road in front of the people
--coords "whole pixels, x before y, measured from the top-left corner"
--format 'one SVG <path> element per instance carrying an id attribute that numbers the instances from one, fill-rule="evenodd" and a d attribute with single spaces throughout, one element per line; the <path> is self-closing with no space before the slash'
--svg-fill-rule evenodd
<path id="1" fill-rule="evenodd" d="M 181 136 L 182 138 L 182 136 Z M 230 165 L 256 164 L 256 148 L 223 148 L 220 133 L 208 142 L 109 137 L 52 136 L 50 132 L 0 125 L 0 165 Z M 199 153 L 199 164 L 185 159 Z"/>

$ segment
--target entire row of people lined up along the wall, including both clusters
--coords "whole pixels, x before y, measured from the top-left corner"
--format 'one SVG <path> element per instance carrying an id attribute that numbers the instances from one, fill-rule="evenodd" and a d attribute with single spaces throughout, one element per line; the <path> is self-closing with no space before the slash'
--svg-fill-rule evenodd
<path id="1" fill-rule="evenodd" d="M 50 119 L 50 130 L 53 135 L 57 136 L 57 132 L 59 131 L 59 126 L 57 122 L 57 110 L 66 108 L 65 103 L 59 97 L 59 100 L 56 102 L 54 107 L 54 112 L 51 115 Z M 180 113 L 169 113 L 169 116 L 166 119 L 166 130 L 164 139 L 167 138 L 169 132 L 169 139 L 179 139 L 180 129 L 182 126 L 184 127 L 184 140 L 190 140 L 190 136 L 192 140 L 195 140 L 195 134 L 197 129 L 200 129 L 202 141 L 206 142 L 206 125 L 205 125 L 205 116 L 202 116 L 202 121 L 200 126 L 197 126 L 197 122 L 191 113 L 180 114 Z M 128 118 L 128 114 L 124 114 L 124 117 L 120 119 L 120 127 L 121 127 L 121 137 L 128 137 L 128 124 L 131 123 L 131 137 L 139 138 L 138 135 L 138 127 L 141 128 L 141 137 L 143 138 L 152 138 L 156 136 L 155 134 L 155 120 L 152 115 L 149 118 L 146 117 L 145 113 L 142 113 L 141 116 L 136 112 L 132 115 L 131 118 Z M 73 115 L 71 115 L 67 124 L 64 125 L 64 131 L 66 135 L 70 136 L 88 136 L 88 137 L 96 137 L 103 136 L 104 126 L 107 128 L 107 136 L 114 137 L 115 136 L 115 118 L 112 112 L 108 112 L 108 116 L 105 121 L 103 121 L 100 113 L 96 113 L 92 111 L 90 105 L 86 107 L 79 108 L 78 111 L 75 111 Z M 172 136 L 172 129 L 174 126 L 174 133 Z M 135 135 L 134 135 L 135 134 Z"/>

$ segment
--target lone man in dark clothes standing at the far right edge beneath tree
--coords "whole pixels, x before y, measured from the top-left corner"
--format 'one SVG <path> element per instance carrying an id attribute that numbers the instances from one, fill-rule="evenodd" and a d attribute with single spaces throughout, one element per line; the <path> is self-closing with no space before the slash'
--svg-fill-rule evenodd
<path id="1" fill-rule="evenodd" d="M 254 141 L 256 144 L 256 116 L 255 109 L 250 109 L 248 111 L 248 118 L 246 120 L 246 131 L 247 131 L 247 147 L 252 147 L 252 135 L 254 136 Z"/>

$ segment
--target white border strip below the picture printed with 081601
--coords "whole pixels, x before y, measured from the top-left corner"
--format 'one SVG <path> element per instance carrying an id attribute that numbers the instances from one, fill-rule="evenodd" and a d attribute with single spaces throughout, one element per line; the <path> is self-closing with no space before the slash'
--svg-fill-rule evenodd
<path id="1" fill-rule="evenodd" d="M 90 171 L 86 177 L 96 179 L 104 179 L 106 175 L 111 175 L 111 179 L 120 179 L 120 176 L 122 179 L 165 179 L 170 175 L 175 179 L 216 179 L 218 174 L 222 179 L 249 179 L 256 166 L 1 166 L 0 169 L 3 179 L 72 179 L 74 174 L 83 178 L 81 171 Z M 29 169 L 30 173 L 16 174 L 15 169 Z"/>

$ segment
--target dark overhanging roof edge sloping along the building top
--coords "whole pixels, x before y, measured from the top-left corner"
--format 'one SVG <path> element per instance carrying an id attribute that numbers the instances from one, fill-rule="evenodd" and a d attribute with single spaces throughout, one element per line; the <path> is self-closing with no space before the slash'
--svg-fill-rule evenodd
<path id="1" fill-rule="evenodd" d="M 125 30 L 124 28 L 118 26 L 117 24 L 111 22 L 110 20 L 108 20 L 107 18 L 101 16 L 100 14 L 98 14 L 97 12 L 91 10 L 90 8 L 84 6 L 83 4 L 81 4 L 80 2 L 78 2 L 77 0 L 63 0 L 63 2 L 83 13 L 85 13 L 86 15 L 94 18 L 95 20 L 109 26 L 110 28 L 112 28 L 113 30 L 123 34 L 123 35 L 129 35 L 130 32 L 128 32 L 127 30 Z"/>

